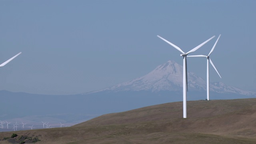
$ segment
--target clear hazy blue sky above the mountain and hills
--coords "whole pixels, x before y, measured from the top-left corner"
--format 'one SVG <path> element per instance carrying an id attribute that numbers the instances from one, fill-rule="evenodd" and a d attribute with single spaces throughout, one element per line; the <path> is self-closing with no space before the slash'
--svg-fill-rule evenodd
<path id="1" fill-rule="evenodd" d="M 0 90 L 79 94 L 143 76 L 211 36 L 210 82 L 256 91 L 255 0 L 0 0 Z M 206 80 L 206 59 L 188 58 Z"/>

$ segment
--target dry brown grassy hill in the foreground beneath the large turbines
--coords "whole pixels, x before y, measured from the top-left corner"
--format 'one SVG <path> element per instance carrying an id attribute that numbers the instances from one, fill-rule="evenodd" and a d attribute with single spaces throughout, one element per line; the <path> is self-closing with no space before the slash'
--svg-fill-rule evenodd
<path id="1" fill-rule="evenodd" d="M 38 144 L 256 144 L 256 98 L 188 101 L 186 119 L 182 108 L 182 102 L 172 102 L 105 114 L 68 128 L 2 132 L 0 143 L 25 137 L 38 138 Z M 4 140 L 12 133 L 18 136 Z"/>

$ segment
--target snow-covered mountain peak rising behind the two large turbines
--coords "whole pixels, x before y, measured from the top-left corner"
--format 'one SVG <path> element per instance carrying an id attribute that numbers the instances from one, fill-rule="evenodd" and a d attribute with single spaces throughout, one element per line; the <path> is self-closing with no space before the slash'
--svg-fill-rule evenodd
<path id="1" fill-rule="evenodd" d="M 182 75 L 183 67 L 174 62 L 168 61 L 165 64 L 157 66 L 150 73 L 136 78 L 129 82 L 123 82 L 116 84 L 114 86 L 89 92 L 86 94 L 91 94 L 95 92 L 124 92 L 124 91 L 182 91 Z M 188 90 L 189 91 L 206 91 L 206 81 L 194 74 L 193 72 L 188 72 Z M 217 93 L 235 93 L 242 95 L 256 95 L 256 92 L 250 92 L 246 90 L 241 90 L 233 86 L 227 86 L 222 82 L 211 82 L 210 91 Z"/>

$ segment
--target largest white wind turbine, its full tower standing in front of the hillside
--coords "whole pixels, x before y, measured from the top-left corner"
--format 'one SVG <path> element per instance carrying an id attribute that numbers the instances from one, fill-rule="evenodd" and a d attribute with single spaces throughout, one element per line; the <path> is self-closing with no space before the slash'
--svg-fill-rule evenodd
<path id="1" fill-rule="evenodd" d="M 188 52 L 183 52 L 178 46 L 172 44 L 171 42 L 162 38 L 161 36 L 158 36 L 158 38 L 161 38 L 162 40 L 164 40 L 165 42 L 167 42 L 168 44 L 170 44 L 171 46 L 176 48 L 178 51 L 180 51 L 181 52 L 180 56 L 183 56 L 183 118 L 187 118 L 188 73 L 187 73 L 187 59 L 186 59 L 186 57 L 189 53 L 196 51 L 198 48 L 200 48 L 201 46 L 206 44 L 208 41 L 210 41 L 214 37 L 215 36 L 212 36 L 211 38 L 209 38 L 208 40 L 206 40 L 205 42 L 196 46 L 195 48 L 193 48 L 192 50 L 190 50 Z"/>

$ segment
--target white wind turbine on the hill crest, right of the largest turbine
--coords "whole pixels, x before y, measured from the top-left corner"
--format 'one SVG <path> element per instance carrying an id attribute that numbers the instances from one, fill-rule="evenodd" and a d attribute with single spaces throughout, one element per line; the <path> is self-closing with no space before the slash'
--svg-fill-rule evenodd
<path id="1" fill-rule="evenodd" d="M 209 88 L 209 61 L 212 64 L 212 67 L 216 70 L 216 72 L 218 73 L 218 75 L 220 76 L 218 70 L 216 69 L 216 67 L 214 66 L 212 60 L 210 59 L 210 54 L 213 52 L 218 40 L 219 40 L 220 36 L 218 37 L 218 39 L 216 40 L 214 46 L 212 47 L 212 50 L 210 51 L 210 53 L 208 54 L 208 56 L 204 56 L 204 55 L 194 55 L 194 56 L 188 56 L 188 57 L 206 57 L 207 59 L 207 72 L 206 72 L 206 77 L 207 77 L 207 100 L 210 100 L 210 88 Z M 221 78 L 221 76 L 220 76 Z"/>

